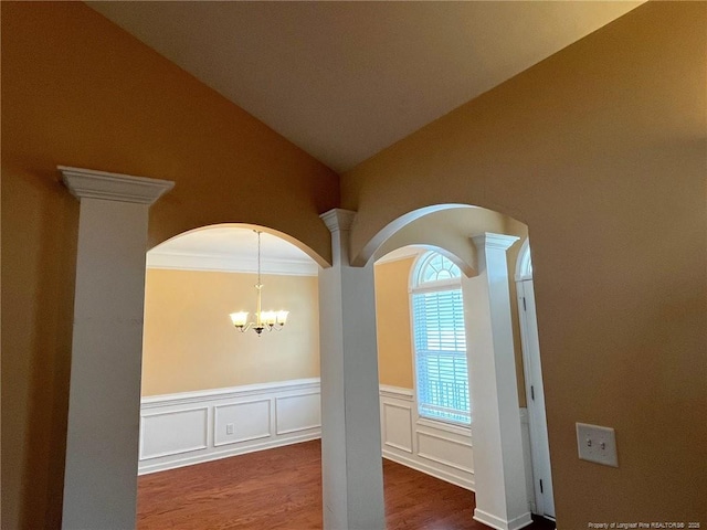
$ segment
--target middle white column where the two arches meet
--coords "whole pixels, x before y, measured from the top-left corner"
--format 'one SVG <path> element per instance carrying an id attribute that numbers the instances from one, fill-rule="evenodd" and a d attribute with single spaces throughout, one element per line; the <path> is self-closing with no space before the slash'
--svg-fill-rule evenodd
<path id="1" fill-rule="evenodd" d="M 373 264 L 349 265 L 355 212 L 321 215 L 334 265 L 319 272 L 321 478 L 326 530 L 386 528 Z"/>

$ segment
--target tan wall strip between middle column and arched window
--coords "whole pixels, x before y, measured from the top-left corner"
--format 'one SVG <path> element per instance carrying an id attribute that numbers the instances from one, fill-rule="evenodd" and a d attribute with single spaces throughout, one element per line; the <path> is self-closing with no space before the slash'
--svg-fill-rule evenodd
<path id="1" fill-rule="evenodd" d="M 377 264 L 376 324 L 378 379 L 381 384 L 412 389 L 412 337 L 410 329 L 410 267 L 414 257 Z"/>

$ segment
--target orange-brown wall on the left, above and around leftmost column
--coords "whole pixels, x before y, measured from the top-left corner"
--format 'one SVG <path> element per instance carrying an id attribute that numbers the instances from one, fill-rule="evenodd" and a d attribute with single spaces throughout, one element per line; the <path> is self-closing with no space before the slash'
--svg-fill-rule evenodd
<path id="1" fill-rule="evenodd" d="M 56 166 L 176 181 L 151 244 L 245 222 L 325 258 L 338 178 L 85 4 L 1 9 L 2 522 L 57 528 L 78 204 Z"/>

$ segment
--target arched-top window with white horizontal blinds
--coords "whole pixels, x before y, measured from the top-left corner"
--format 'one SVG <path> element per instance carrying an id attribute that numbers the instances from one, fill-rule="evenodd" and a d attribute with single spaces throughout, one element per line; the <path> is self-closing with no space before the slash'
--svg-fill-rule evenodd
<path id="1" fill-rule="evenodd" d="M 436 252 L 419 258 L 412 282 L 413 346 L 420 416 L 469 424 L 461 276 Z"/>

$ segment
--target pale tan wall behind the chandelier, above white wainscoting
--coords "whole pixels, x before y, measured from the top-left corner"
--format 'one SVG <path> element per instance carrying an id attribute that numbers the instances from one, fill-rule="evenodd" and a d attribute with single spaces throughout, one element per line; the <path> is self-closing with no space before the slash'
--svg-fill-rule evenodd
<path id="1" fill-rule="evenodd" d="M 229 314 L 255 310 L 254 274 L 148 269 L 143 395 L 319 377 L 316 276 L 263 276 L 263 309 L 291 311 L 279 332 L 241 333 Z"/>

